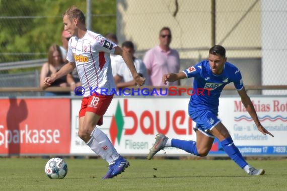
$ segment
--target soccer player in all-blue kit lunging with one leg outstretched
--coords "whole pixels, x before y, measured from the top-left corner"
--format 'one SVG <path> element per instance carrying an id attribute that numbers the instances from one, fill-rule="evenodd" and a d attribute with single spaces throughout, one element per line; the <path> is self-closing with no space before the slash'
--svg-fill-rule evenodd
<path id="1" fill-rule="evenodd" d="M 167 81 L 173 82 L 194 77 L 193 89 L 195 92 L 192 93 L 190 98 L 188 112 L 192 120 L 196 123 L 196 127 L 194 128 L 196 141 L 171 139 L 163 134 L 158 134 L 154 146 L 150 149 L 148 155 L 149 160 L 164 147 L 176 147 L 197 156 L 206 156 L 211 149 L 214 137 L 217 137 L 229 157 L 244 169 L 246 173 L 249 175 L 264 174 L 264 169 L 256 169 L 245 161 L 239 149 L 234 145 L 228 130 L 222 124 L 221 120 L 218 119 L 221 91 L 226 84 L 233 82 L 244 107 L 252 117 L 258 130 L 264 135 L 269 134 L 273 137 L 273 135 L 261 125 L 253 104 L 244 88 L 241 73 L 236 66 L 227 62 L 225 52 L 223 46 L 213 46 L 209 49 L 208 60 L 199 62 L 195 66 L 189 67 L 182 72 L 169 73 L 163 76 L 163 82 L 165 84 Z M 204 91 L 202 91 L 203 88 Z"/>

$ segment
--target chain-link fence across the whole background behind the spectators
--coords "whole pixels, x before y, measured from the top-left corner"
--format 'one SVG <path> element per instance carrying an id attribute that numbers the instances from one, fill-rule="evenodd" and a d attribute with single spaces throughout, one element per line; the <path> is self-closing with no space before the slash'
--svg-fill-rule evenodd
<path id="1" fill-rule="evenodd" d="M 111 4 L 114 13 L 95 11 L 95 6 L 111 9 L 110 2 L 114 2 Z M 50 9 L 53 12 L 43 11 L 41 4 L 53 7 Z M 0 67 L 1 63 L 46 58 L 50 44 L 45 42 L 52 38 L 60 44 L 61 14 L 73 4 L 86 11 L 85 1 L 27 0 L 13 4 L 1 1 Z M 284 0 L 102 0 L 91 1 L 91 6 L 91 29 L 103 35 L 116 31 L 119 44 L 133 41 L 139 58 L 159 44 L 159 31 L 167 26 L 172 30 L 171 47 L 180 53 L 181 70 L 206 59 L 208 49 L 221 44 L 227 49 L 228 61 L 241 70 L 246 85 L 287 84 L 284 77 L 287 2 Z M 35 30 L 38 25 L 41 28 Z M 46 32 L 50 28 L 54 28 L 51 34 Z M 11 33 L 16 35 L 11 37 L 8 35 Z M 21 35 L 29 38 L 21 38 Z M 12 48 L 13 43 L 19 46 Z M 23 52 L 29 43 L 34 45 Z M 5 72 L 0 71 L 0 87 L 3 87 L 6 80 L 1 73 Z M 190 84 L 191 80 L 182 81 L 182 85 Z M 266 90 L 263 93 L 287 92 Z"/>

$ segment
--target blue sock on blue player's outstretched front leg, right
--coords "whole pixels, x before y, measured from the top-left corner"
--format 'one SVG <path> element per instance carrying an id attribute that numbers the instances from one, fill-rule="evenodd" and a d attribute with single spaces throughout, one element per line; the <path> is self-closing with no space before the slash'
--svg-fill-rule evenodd
<path id="1" fill-rule="evenodd" d="M 221 141 L 221 145 L 225 152 L 228 154 L 228 156 L 238 164 L 241 168 L 244 168 L 244 166 L 247 165 L 247 162 L 241 155 L 239 149 L 234 145 L 233 140 L 231 137 L 224 139 Z"/>

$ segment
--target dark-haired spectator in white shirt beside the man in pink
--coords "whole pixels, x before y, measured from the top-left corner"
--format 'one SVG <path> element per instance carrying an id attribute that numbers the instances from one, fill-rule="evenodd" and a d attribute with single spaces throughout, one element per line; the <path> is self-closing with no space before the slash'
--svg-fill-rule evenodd
<path id="1" fill-rule="evenodd" d="M 125 41 L 122 43 L 121 48 L 132 55 L 133 64 L 137 73 L 139 73 L 142 77 L 145 77 L 146 78 L 145 85 L 149 85 L 149 75 L 147 72 L 147 68 L 145 64 L 142 62 L 142 60 L 134 57 L 135 50 L 133 43 L 131 41 Z M 130 70 L 128 69 L 124 60 L 123 59 L 121 60 L 122 61 L 118 64 L 117 67 L 117 74 L 114 76 L 117 88 L 136 85 L 136 82 L 133 79 Z"/>

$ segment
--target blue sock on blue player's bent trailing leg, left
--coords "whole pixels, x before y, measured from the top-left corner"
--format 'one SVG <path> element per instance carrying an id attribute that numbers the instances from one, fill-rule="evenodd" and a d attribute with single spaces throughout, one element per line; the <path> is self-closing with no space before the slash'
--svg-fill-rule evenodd
<path id="1" fill-rule="evenodd" d="M 197 152 L 195 141 L 184 141 L 184 140 L 179 140 L 179 139 L 172 139 L 171 146 L 185 150 L 186 152 L 194 154 L 196 156 L 200 156 Z"/>

